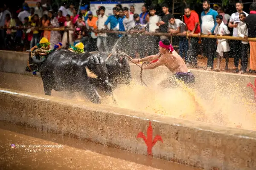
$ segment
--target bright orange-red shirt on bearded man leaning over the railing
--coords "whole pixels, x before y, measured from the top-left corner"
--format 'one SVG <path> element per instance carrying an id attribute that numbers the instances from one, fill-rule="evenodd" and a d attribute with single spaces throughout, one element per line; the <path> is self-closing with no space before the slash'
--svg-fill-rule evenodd
<path id="1" fill-rule="evenodd" d="M 193 29 L 195 28 L 195 23 L 199 23 L 198 14 L 195 11 L 191 11 L 189 18 L 184 15 L 184 23 L 187 25 L 189 31 L 193 31 Z M 200 23 L 198 24 L 198 27 L 196 28 L 194 33 L 200 33 Z"/>

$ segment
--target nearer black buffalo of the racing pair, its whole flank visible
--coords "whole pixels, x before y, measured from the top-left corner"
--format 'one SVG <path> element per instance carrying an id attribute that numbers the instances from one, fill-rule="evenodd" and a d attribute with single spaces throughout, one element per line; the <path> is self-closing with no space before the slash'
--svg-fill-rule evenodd
<path id="1" fill-rule="evenodd" d="M 96 91 L 96 86 L 99 86 L 113 96 L 107 65 L 99 55 L 59 49 L 50 52 L 44 61 L 35 56 L 29 57 L 29 63 L 37 66 L 46 95 L 51 95 L 52 89 L 71 93 L 81 91 L 89 96 L 91 102 L 100 103 Z"/>

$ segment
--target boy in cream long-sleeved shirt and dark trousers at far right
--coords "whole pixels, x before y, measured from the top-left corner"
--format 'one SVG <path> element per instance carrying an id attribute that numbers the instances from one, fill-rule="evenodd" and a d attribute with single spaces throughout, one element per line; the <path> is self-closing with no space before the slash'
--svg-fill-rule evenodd
<path id="1" fill-rule="evenodd" d="M 248 38 L 248 29 L 246 26 L 246 23 L 244 23 L 246 14 L 244 12 L 239 14 L 239 19 L 240 19 L 240 23 L 237 26 L 237 32 L 238 32 L 238 36 L 241 38 Z M 242 67 L 241 67 L 241 71 L 239 71 L 239 74 L 243 74 L 246 72 L 247 66 L 248 66 L 248 47 L 249 47 L 249 42 L 248 41 L 242 41 Z"/>

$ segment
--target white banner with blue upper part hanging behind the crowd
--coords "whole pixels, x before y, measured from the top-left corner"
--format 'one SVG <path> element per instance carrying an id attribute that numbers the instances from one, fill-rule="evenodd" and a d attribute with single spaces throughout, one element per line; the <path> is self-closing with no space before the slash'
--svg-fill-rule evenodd
<path id="1" fill-rule="evenodd" d="M 104 6 L 106 8 L 105 14 L 107 16 L 113 15 L 113 8 L 116 6 L 116 4 L 118 4 L 120 2 L 109 2 L 109 1 L 93 1 L 90 2 L 90 11 L 93 12 L 93 15 L 96 15 L 96 11 L 99 9 L 99 7 Z M 130 6 L 134 6 L 135 8 L 135 14 L 140 14 L 141 8 L 144 5 L 144 1 L 126 1 L 124 3 L 121 3 L 122 7 L 128 7 L 130 9 Z"/>

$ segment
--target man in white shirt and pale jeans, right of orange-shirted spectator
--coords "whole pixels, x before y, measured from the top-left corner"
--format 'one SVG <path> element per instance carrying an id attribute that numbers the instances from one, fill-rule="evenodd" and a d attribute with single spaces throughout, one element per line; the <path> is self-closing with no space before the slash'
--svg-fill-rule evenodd
<path id="1" fill-rule="evenodd" d="M 99 7 L 99 17 L 98 17 L 98 30 L 104 30 L 105 29 L 105 22 L 108 20 L 108 17 L 105 15 L 106 8 L 104 6 Z M 108 51 L 107 49 L 107 34 L 106 33 L 99 33 L 97 37 L 97 48 L 99 51 L 103 51 L 101 48 L 101 42 L 103 41 L 103 45 L 105 48 L 105 51 Z"/>

